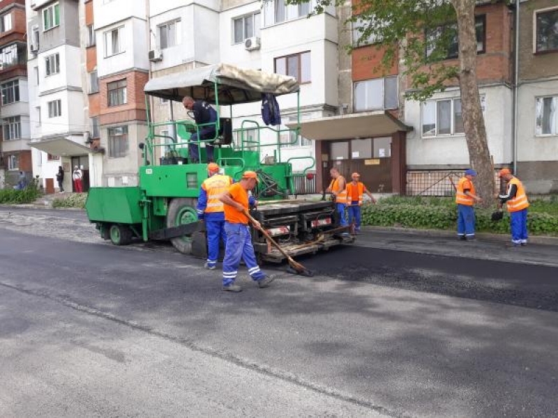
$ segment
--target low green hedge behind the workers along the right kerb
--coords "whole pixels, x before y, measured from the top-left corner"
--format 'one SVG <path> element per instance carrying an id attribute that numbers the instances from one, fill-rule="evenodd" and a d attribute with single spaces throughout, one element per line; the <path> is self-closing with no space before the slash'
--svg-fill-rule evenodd
<path id="1" fill-rule="evenodd" d="M 510 233 L 509 214 L 492 222 L 493 209 L 475 210 L 476 231 Z M 457 207 L 453 199 L 434 197 L 392 196 L 376 205 L 363 206 L 362 224 L 370 226 L 396 226 L 412 229 L 443 229 L 454 231 Z M 558 235 L 558 202 L 536 200 L 529 206 L 527 229 L 532 235 Z"/>

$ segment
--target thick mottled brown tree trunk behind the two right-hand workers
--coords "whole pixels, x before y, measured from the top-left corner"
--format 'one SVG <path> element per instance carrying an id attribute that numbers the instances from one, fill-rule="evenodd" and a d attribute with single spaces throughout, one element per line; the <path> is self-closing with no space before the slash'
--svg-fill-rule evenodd
<path id="1" fill-rule="evenodd" d="M 481 98 L 476 84 L 475 0 L 451 0 L 458 17 L 460 88 L 463 126 L 469 161 L 478 176 L 474 180 L 476 194 L 483 198 L 482 206 L 495 203 L 494 169 L 490 160 Z"/>

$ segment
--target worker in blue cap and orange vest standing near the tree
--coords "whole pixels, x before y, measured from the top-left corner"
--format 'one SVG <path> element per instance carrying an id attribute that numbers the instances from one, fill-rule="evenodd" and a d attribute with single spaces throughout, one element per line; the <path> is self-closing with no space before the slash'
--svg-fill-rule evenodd
<path id="1" fill-rule="evenodd" d="M 458 238 L 460 240 L 475 239 L 475 211 L 474 203 L 483 199 L 476 196 L 473 178 L 476 171 L 465 170 L 465 176 L 459 179 L 455 189 L 455 203 L 458 205 Z"/>

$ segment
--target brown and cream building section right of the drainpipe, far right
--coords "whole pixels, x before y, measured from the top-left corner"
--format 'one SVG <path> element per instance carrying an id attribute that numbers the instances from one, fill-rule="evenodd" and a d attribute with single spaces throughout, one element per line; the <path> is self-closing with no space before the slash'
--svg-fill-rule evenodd
<path id="1" fill-rule="evenodd" d="M 522 1 L 515 161 L 531 193 L 558 192 L 558 4 Z"/>

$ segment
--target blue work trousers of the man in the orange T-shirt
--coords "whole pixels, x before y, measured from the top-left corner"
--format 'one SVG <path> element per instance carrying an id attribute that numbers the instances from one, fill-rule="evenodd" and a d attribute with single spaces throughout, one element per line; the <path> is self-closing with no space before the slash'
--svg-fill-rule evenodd
<path id="1" fill-rule="evenodd" d="M 253 280 L 265 279 L 266 275 L 259 270 L 259 265 L 256 263 L 250 227 L 225 221 L 225 233 L 227 234 L 227 245 L 223 260 L 223 286 L 234 283 L 236 275 L 239 273 L 241 258 L 246 263 L 248 274 Z"/>

